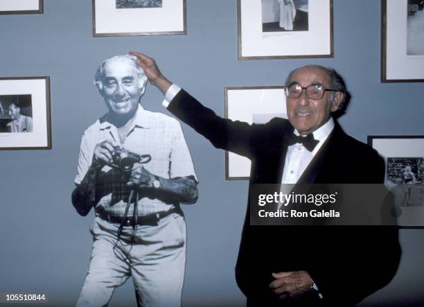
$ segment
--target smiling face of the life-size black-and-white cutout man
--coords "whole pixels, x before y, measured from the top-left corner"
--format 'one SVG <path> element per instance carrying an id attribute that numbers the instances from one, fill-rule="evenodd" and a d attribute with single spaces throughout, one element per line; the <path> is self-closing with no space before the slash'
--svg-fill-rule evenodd
<path id="1" fill-rule="evenodd" d="M 129 114 L 139 105 L 143 94 L 139 88 L 139 77 L 131 60 L 121 58 L 105 63 L 100 94 L 105 98 L 109 112 Z"/>

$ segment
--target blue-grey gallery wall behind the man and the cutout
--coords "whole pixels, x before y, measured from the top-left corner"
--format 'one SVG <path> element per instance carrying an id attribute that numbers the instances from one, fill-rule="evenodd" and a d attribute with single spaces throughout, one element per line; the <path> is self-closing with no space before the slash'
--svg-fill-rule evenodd
<path id="1" fill-rule="evenodd" d="M 152 55 L 170 80 L 222 115 L 226 86 L 281 85 L 295 67 L 335 67 L 353 93 L 341 119 L 348 134 L 364 142 L 368 134 L 424 134 L 424 85 L 380 83 L 379 0 L 334 1 L 335 56 L 328 59 L 237 60 L 235 0 L 187 0 L 187 35 L 94 38 L 91 26 L 87 0 L 44 0 L 43 15 L 0 16 L 0 77 L 50 76 L 53 129 L 52 150 L 0 152 L 0 292 L 45 293 L 51 306 L 72 306 L 78 298 L 93 213 L 78 216 L 70 195 L 81 134 L 106 111 L 92 83 L 94 72 L 112 55 Z M 161 100 L 149 86 L 142 103 L 166 112 Z M 183 129 L 200 179 L 197 204 L 184 207 L 184 304 L 243 306 L 233 266 L 247 182 L 225 181 L 224 152 Z M 423 306 L 424 229 L 402 229 L 400 242 L 398 274 L 363 306 Z M 110 306 L 125 302 L 134 306 L 131 283 L 116 290 Z"/>

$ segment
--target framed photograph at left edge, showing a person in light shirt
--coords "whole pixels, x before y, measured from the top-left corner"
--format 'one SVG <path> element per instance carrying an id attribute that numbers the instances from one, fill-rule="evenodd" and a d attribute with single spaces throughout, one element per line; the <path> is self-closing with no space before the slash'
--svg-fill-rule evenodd
<path id="1" fill-rule="evenodd" d="M 0 78 L 0 150 L 51 149 L 50 78 Z"/>

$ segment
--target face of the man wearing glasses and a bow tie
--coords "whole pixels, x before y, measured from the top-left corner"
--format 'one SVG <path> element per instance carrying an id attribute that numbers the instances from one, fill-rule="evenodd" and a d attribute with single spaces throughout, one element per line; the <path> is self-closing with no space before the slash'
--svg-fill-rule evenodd
<path id="1" fill-rule="evenodd" d="M 331 89 L 330 79 L 326 71 L 319 67 L 302 67 L 293 73 L 291 82 L 297 82 L 301 87 L 312 84 L 321 84 L 324 89 Z M 330 118 L 331 112 L 339 108 L 341 93 L 324 91 L 321 99 L 314 100 L 306 96 L 306 91 L 301 92 L 299 98 L 287 98 L 288 119 L 293 127 L 302 135 L 310 134 L 324 125 Z M 335 99 L 333 97 L 335 96 Z"/>

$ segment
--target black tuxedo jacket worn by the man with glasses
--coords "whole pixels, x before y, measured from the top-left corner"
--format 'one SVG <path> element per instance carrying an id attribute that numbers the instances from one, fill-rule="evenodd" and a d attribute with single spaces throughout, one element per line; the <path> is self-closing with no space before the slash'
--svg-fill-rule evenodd
<path id="1" fill-rule="evenodd" d="M 287 138 L 294 130 L 289 121 L 249 125 L 222 119 L 184 90 L 168 110 L 216 148 L 249 157 L 249 191 L 253 184 L 281 183 Z M 382 183 L 384 174 L 378 153 L 336 123 L 298 183 Z M 271 273 L 305 270 L 324 297 L 311 297 L 308 306 L 354 306 L 391 281 L 399 259 L 395 227 L 251 226 L 248 204 L 236 280 L 248 306 L 285 306 L 268 288 Z"/>

